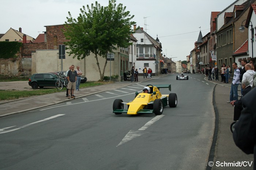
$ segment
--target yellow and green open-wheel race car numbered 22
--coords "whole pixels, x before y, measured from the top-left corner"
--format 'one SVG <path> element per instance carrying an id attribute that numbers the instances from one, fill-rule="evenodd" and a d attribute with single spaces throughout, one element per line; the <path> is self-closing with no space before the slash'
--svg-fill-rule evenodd
<path id="1" fill-rule="evenodd" d="M 160 88 L 169 88 L 171 91 L 171 85 L 161 84 L 152 86 L 148 84 L 143 88 L 142 93 L 136 92 L 135 99 L 129 103 L 124 103 L 122 99 L 116 99 L 113 102 L 113 113 L 128 115 L 136 115 L 140 113 L 154 113 L 155 115 L 161 115 L 163 113 L 163 107 L 169 105 L 169 107 L 177 106 L 176 93 L 170 93 L 167 95 L 161 94 Z M 124 104 L 127 105 L 127 109 L 124 109 Z"/>

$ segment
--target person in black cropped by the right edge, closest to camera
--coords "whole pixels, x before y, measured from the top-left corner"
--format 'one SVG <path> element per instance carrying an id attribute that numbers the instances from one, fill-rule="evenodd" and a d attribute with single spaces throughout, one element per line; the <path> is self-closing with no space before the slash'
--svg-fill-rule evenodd
<path id="1" fill-rule="evenodd" d="M 234 126 L 233 139 L 244 153 L 254 154 L 253 169 L 256 170 L 256 88 L 241 100 L 244 109 Z"/>

